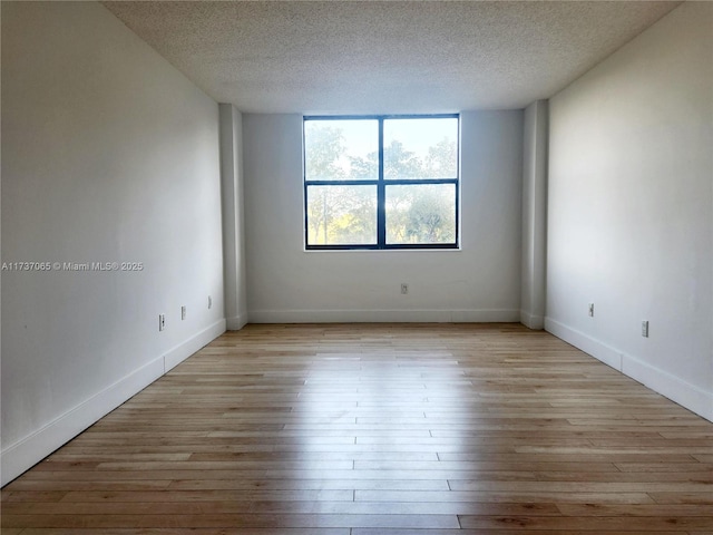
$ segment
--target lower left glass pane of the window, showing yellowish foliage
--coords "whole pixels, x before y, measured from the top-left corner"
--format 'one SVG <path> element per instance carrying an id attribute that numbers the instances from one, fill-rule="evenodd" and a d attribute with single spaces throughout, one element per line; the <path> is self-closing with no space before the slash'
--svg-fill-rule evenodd
<path id="1" fill-rule="evenodd" d="M 377 186 L 307 186 L 307 245 L 377 243 Z"/>

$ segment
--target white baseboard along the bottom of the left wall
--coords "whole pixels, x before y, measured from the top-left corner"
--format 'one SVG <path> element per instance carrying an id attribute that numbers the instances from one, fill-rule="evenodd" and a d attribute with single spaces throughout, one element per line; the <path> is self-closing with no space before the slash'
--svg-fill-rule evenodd
<path id="1" fill-rule="evenodd" d="M 67 444 L 223 332 L 225 332 L 225 320 L 217 321 L 163 356 L 86 399 L 32 435 L 8 446 L 0 455 L 0 486 L 7 485 L 52 451 Z"/>

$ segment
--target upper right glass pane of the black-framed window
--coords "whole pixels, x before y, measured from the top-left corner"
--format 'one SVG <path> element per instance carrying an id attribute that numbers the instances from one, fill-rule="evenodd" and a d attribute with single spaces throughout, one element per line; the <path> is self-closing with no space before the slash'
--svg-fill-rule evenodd
<path id="1" fill-rule="evenodd" d="M 383 175 L 389 178 L 456 178 L 458 119 L 384 119 Z"/>

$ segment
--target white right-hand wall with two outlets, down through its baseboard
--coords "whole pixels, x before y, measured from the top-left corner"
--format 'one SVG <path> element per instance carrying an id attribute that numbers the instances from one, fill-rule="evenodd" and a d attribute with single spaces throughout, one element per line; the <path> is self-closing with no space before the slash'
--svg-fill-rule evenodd
<path id="1" fill-rule="evenodd" d="M 550 100 L 546 323 L 709 419 L 712 28 L 686 2 Z"/>

